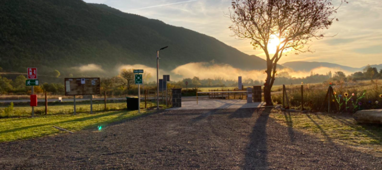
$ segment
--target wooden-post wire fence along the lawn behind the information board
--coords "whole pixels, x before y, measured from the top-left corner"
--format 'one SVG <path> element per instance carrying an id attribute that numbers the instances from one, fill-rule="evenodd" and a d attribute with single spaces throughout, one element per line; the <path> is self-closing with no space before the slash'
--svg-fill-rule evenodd
<path id="1" fill-rule="evenodd" d="M 156 92 L 149 93 L 143 90 L 141 93 L 141 108 L 156 108 Z M 161 93 L 159 93 L 161 94 Z M 34 113 L 38 115 L 55 115 L 55 114 L 73 114 L 74 98 L 73 96 L 58 95 L 54 93 L 37 93 L 38 106 L 34 107 Z M 165 93 L 161 95 L 160 104 L 166 105 Z M 171 105 L 171 92 L 168 92 L 167 105 Z M 61 101 L 59 100 L 61 98 Z M 76 113 L 90 113 L 90 98 L 76 96 Z M 118 111 L 127 109 L 126 98 L 121 96 L 93 95 L 92 111 Z M 30 95 L 8 95 L 0 97 L 0 118 L 4 117 L 27 117 L 32 115 L 32 107 L 30 106 Z"/>

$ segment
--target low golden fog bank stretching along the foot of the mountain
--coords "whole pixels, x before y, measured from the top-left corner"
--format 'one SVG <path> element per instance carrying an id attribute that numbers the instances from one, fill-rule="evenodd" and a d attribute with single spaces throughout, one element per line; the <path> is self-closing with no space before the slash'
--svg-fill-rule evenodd
<path id="1" fill-rule="evenodd" d="M 160 67 L 160 65 L 159 65 Z M 103 69 L 101 65 L 98 64 L 87 64 L 80 65 L 77 67 L 70 68 L 71 71 L 77 73 L 74 77 L 84 77 L 84 76 L 97 76 L 97 77 L 114 77 L 118 76 L 122 69 L 143 69 L 146 74 L 149 74 L 149 79 L 145 82 L 156 81 L 156 68 L 149 67 L 143 64 L 119 64 L 112 69 Z M 331 72 L 343 72 L 345 75 L 350 75 L 352 73 L 345 71 L 340 68 L 329 68 L 329 67 L 316 67 L 312 68 L 310 71 L 294 71 L 285 67 L 284 69 L 277 70 L 277 78 L 288 78 L 288 79 L 301 79 L 312 75 L 326 75 Z M 230 64 L 216 64 L 210 62 L 191 62 L 184 65 L 176 67 L 174 70 L 166 71 L 159 69 L 159 79 L 162 75 L 170 75 L 171 81 L 181 81 L 187 78 L 198 77 L 200 80 L 203 79 L 219 79 L 219 80 L 229 80 L 237 81 L 238 76 L 241 76 L 243 80 L 251 79 L 263 82 L 266 78 L 265 70 L 254 70 L 245 71 L 233 67 Z"/>

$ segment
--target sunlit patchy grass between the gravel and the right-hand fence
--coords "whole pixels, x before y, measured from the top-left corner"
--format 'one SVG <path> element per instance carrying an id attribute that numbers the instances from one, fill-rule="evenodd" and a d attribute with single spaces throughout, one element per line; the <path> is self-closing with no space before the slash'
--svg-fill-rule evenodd
<path id="1" fill-rule="evenodd" d="M 282 125 L 319 135 L 322 140 L 373 150 L 382 154 L 382 126 L 357 124 L 351 116 L 274 113 Z"/>

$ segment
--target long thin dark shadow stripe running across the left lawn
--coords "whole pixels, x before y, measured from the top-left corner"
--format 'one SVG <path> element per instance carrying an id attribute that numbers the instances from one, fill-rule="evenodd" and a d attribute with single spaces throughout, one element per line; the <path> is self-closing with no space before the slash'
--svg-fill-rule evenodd
<path id="1" fill-rule="evenodd" d="M 86 121 L 86 120 L 97 119 L 97 118 L 101 118 L 101 117 L 105 117 L 105 116 L 120 114 L 123 112 L 126 112 L 126 114 L 128 113 L 128 111 L 118 111 L 118 112 L 110 112 L 110 113 L 105 113 L 105 114 L 96 114 L 94 116 L 83 117 L 83 118 L 72 119 L 72 120 L 65 120 L 65 121 L 60 121 L 60 122 L 51 122 L 51 123 L 36 124 L 36 125 L 31 125 L 31 126 L 23 126 L 23 127 L 19 127 L 19 128 L 0 131 L 0 133 L 12 132 L 12 131 L 17 131 L 17 130 L 25 130 L 25 129 L 29 129 L 29 128 L 35 128 L 35 127 L 41 127 L 41 126 L 47 126 L 47 125 L 57 125 L 59 123 Z"/>

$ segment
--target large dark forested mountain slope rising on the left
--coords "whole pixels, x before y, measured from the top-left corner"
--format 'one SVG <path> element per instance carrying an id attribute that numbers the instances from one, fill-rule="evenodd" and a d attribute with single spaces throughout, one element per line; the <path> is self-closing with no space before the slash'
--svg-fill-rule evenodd
<path id="1" fill-rule="evenodd" d="M 86 64 L 106 72 L 121 64 L 156 67 L 156 50 L 164 46 L 163 70 L 211 60 L 243 70 L 266 67 L 264 59 L 202 33 L 81 0 L 2 0 L 0 23 L 0 67 L 7 72 L 38 67 L 65 76 Z"/>

